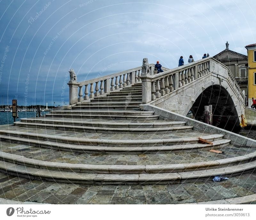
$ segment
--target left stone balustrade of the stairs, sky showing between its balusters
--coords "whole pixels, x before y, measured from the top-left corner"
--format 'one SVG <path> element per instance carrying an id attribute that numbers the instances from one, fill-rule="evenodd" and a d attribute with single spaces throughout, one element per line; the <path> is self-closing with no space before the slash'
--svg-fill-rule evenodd
<path id="1" fill-rule="evenodd" d="M 149 66 L 151 74 L 154 75 L 155 64 L 149 64 Z M 90 99 L 95 96 L 104 95 L 110 91 L 115 91 L 139 82 L 141 81 L 141 70 L 141 66 L 139 66 L 123 72 L 97 77 L 95 79 L 86 80 L 83 82 L 69 81 L 69 104 L 76 104 L 77 102 L 82 102 L 84 100 L 90 101 Z M 90 91 L 88 88 L 89 85 Z"/>

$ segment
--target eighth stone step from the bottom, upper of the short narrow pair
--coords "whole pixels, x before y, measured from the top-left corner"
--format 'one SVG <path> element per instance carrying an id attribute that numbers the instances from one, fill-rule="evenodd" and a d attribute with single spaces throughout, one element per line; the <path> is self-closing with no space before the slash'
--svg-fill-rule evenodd
<path id="1" fill-rule="evenodd" d="M 55 114 L 72 114 L 72 115 L 125 115 L 125 116 L 152 116 L 154 115 L 154 111 L 140 111 L 140 110 L 100 110 L 100 111 L 90 111 L 90 110 L 58 110 L 58 111 L 50 111 L 46 115 L 55 115 Z"/>

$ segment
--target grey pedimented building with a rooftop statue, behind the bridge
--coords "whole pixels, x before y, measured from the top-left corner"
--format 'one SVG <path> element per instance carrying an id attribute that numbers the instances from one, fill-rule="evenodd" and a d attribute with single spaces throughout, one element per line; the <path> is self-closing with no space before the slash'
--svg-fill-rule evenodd
<path id="1" fill-rule="evenodd" d="M 244 91 L 245 105 L 248 105 L 248 57 L 244 54 L 237 53 L 228 48 L 229 44 L 226 43 L 226 49 L 213 56 L 216 60 L 225 64 L 230 72 L 236 79 L 237 84 Z"/>

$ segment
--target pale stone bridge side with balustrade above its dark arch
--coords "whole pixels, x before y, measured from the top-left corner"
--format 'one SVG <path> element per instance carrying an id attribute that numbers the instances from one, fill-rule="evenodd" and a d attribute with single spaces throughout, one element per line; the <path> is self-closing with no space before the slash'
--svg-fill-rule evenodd
<path id="1" fill-rule="evenodd" d="M 212 105 L 213 125 L 239 128 L 244 94 L 228 67 L 209 57 L 156 75 L 141 76 L 142 102 L 204 122 L 204 106 Z"/>

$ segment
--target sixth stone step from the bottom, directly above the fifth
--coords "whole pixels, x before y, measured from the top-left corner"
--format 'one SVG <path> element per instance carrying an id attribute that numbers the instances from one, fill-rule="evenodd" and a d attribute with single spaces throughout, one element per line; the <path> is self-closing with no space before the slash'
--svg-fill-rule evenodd
<path id="1" fill-rule="evenodd" d="M 182 121 L 165 121 L 165 122 L 144 122 L 144 123 L 124 123 L 124 122 L 94 122 L 94 121 L 75 121 L 75 120 L 52 120 L 44 118 L 21 118 L 21 122 L 28 123 L 43 123 L 55 125 L 79 125 L 79 126 L 93 126 L 93 127 L 117 127 L 117 128 L 159 128 L 159 127 L 172 127 L 183 126 L 186 122 Z"/>

